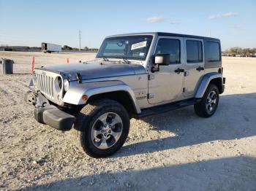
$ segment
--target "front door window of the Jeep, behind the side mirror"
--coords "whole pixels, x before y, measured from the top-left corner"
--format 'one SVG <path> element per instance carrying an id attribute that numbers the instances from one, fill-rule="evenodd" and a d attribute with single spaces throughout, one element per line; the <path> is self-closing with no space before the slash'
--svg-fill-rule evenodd
<path id="1" fill-rule="evenodd" d="M 170 63 L 181 63 L 181 42 L 178 39 L 159 39 L 157 54 L 169 54 Z"/>

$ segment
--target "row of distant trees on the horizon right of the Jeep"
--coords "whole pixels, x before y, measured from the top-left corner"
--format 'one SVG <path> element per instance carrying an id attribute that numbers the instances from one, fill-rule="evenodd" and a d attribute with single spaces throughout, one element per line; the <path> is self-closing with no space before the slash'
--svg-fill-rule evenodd
<path id="1" fill-rule="evenodd" d="M 222 55 L 227 56 L 246 56 L 246 57 L 256 57 L 256 48 L 241 48 L 241 47 L 232 47 L 228 50 L 222 52 Z"/>

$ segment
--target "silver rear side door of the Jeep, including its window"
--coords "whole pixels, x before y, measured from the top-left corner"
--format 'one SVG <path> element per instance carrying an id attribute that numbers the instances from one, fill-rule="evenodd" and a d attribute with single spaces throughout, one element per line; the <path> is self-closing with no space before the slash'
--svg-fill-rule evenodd
<path id="1" fill-rule="evenodd" d="M 195 95 L 200 79 L 204 75 L 204 49 L 203 39 L 185 38 L 185 77 L 184 96 Z"/>

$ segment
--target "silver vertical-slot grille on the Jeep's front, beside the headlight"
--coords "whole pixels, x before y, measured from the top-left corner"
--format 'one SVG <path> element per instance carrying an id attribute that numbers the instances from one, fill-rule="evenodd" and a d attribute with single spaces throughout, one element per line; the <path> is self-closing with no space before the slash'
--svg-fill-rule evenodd
<path id="1" fill-rule="evenodd" d="M 37 74 L 37 85 L 39 86 L 40 91 L 48 96 L 53 98 L 53 77 L 48 77 L 45 74 Z"/>

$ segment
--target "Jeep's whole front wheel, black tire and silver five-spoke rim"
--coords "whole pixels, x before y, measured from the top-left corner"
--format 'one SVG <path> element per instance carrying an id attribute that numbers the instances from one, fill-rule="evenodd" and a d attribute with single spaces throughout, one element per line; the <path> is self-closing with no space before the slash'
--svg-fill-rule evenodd
<path id="1" fill-rule="evenodd" d="M 83 150 L 91 157 L 107 157 L 122 147 L 129 133 L 129 115 L 116 101 L 102 99 L 81 109 L 75 122 Z"/>

